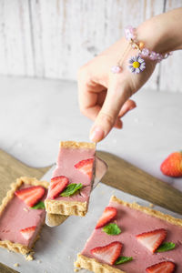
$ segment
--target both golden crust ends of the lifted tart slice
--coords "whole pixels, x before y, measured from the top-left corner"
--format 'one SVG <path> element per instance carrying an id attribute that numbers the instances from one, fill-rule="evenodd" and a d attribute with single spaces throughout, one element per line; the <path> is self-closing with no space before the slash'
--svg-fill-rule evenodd
<path id="1" fill-rule="evenodd" d="M 96 149 L 96 143 L 61 141 L 60 147 Z M 51 214 L 59 214 L 66 216 L 76 215 L 84 217 L 87 212 L 87 206 L 88 206 L 87 202 L 45 199 L 45 210 L 46 212 Z"/>

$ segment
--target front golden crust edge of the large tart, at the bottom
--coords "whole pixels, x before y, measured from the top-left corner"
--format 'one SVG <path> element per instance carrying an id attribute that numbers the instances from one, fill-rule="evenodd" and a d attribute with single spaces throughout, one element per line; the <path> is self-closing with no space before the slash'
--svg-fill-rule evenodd
<path id="1" fill-rule="evenodd" d="M 126 273 L 125 271 L 122 271 L 120 269 L 100 263 L 96 260 L 96 258 L 87 258 L 80 253 L 77 255 L 75 267 L 85 268 L 96 273 Z"/>

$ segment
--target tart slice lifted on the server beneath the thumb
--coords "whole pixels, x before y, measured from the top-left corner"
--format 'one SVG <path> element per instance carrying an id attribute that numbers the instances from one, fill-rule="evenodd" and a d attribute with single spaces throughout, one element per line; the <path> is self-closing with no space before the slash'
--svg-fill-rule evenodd
<path id="1" fill-rule="evenodd" d="M 56 169 L 45 199 L 50 214 L 85 216 L 95 176 L 96 144 L 60 142 Z"/>

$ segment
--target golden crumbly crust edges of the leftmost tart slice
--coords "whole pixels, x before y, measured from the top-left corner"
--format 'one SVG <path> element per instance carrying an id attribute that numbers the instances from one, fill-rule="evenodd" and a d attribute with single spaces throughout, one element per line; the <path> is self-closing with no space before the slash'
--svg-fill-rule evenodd
<path id="1" fill-rule="evenodd" d="M 0 206 L 0 217 L 3 214 L 5 207 L 8 205 L 8 203 L 13 199 L 15 191 L 18 189 L 18 187 L 21 187 L 22 184 L 27 184 L 27 185 L 31 185 L 31 186 L 42 186 L 45 188 L 48 188 L 49 183 L 46 181 L 39 181 L 37 180 L 35 177 L 20 177 L 16 179 L 15 183 L 11 184 L 11 189 L 7 192 L 6 197 L 3 199 L 2 201 L 2 205 Z M 41 230 L 41 228 L 40 228 Z M 40 233 L 40 231 L 39 231 Z M 39 235 L 36 236 L 35 241 L 40 238 Z M 33 244 L 33 247 L 35 245 L 35 241 Z M 21 253 L 23 255 L 27 255 L 29 253 L 33 254 L 32 248 L 27 248 L 26 246 L 22 245 L 22 244 L 18 244 L 18 243 L 13 243 L 9 240 L 4 240 L 1 241 L 0 240 L 0 247 L 1 248 L 6 248 L 10 251 L 14 251 L 17 253 Z"/>

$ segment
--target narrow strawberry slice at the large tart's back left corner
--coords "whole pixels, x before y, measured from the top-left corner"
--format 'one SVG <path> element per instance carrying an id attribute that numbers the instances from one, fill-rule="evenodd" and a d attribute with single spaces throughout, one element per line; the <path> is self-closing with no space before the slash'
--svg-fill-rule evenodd
<path id="1" fill-rule="evenodd" d="M 104 227 L 107 223 L 116 217 L 116 207 L 106 207 L 102 216 L 96 224 L 96 228 Z"/>

